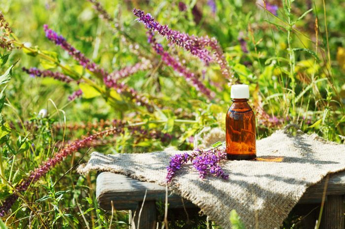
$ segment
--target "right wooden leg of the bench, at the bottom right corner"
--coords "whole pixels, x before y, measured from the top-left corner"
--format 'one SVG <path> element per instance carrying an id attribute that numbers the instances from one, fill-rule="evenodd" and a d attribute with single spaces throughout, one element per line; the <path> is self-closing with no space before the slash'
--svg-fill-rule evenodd
<path id="1" fill-rule="evenodd" d="M 321 220 L 323 229 L 345 229 L 344 196 L 327 196 L 323 211 L 324 214 Z"/>

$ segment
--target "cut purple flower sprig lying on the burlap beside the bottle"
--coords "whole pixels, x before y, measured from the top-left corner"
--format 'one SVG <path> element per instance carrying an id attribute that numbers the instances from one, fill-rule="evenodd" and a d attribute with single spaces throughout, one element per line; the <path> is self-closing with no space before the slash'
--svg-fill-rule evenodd
<path id="1" fill-rule="evenodd" d="M 188 162 L 193 164 L 201 178 L 205 178 L 207 174 L 213 174 L 226 180 L 229 178 L 229 174 L 226 174 L 218 164 L 223 159 L 226 159 L 225 150 L 218 148 L 207 151 L 194 149 L 190 154 L 186 152 L 175 154 L 170 158 L 170 164 L 167 166 L 167 182 L 172 181 L 176 171 Z"/>

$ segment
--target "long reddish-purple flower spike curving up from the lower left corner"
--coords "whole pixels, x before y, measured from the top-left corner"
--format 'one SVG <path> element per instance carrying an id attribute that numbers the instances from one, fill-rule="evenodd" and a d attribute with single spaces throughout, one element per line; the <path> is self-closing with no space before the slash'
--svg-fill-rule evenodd
<path id="1" fill-rule="evenodd" d="M 57 164 L 62 162 L 64 158 L 69 156 L 70 154 L 78 151 L 81 148 L 90 146 L 96 139 L 103 138 L 105 136 L 109 135 L 115 135 L 119 134 L 123 131 L 125 122 L 117 121 L 116 127 L 97 132 L 93 135 L 90 135 L 84 139 L 76 140 L 63 149 L 61 149 L 58 153 L 54 155 L 53 158 L 49 158 L 47 161 L 45 161 L 42 165 L 40 165 L 38 168 L 30 172 L 30 175 L 28 178 L 24 179 L 17 187 L 16 190 L 18 192 L 26 191 L 29 186 L 32 183 L 35 183 L 40 177 L 45 175 L 47 172 L 49 172 L 52 168 L 54 168 Z M 17 195 L 12 195 L 6 200 L 2 202 L 2 206 L 0 206 L 0 217 L 3 217 L 6 212 L 8 212 L 13 203 L 18 199 Z"/>

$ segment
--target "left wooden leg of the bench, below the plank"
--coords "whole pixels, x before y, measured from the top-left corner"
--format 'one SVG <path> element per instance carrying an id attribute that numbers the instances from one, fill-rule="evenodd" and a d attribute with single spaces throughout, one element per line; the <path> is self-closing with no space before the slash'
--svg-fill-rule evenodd
<path id="1" fill-rule="evenodd" d="M 139 202 L 133 222 L 136 229 L 155 229 L 156 228 L 156 203 L 155 201 L 145 201 L 140 214 L 140 221 L 138 225 L 139 212 L 142 202 Z"/>

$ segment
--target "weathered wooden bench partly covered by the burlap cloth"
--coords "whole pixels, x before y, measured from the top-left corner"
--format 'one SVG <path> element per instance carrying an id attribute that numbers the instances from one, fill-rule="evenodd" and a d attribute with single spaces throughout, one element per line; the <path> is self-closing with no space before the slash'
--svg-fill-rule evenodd
<path id="1" fill-rule="evenodd" d="M 324 178 L 320 183 L 308 188 L 307 192 L 294 208 L 296 212 L 307 215 L 301 221 L 303 228 L 314 229 L 326 182 L 326 201 L 323 207 L 320 228 L 345 228 L 345 172 L 330 175 L 329 179 Z M 133 210 L 136 212 L 133 222 L 137 223 L 138 212 L 142 207 L 139 228 L 156 228 L 156 201 L 165 201 L 165 187 L 150 182 L 138 181 L 125 175 L 111 172 L 100 173 L 97 177 L 96 187 L 96 196 L 101 208 L 111 210 L 113 206 L 116 210 Z M 144 205 L 141 206 L 145 193 Z M 171 192 L 168 192 L 168 202 L 169 209 L 179 209 L 178 211 L 182 213 L 186 209 L 197 208 L 193 203 L 183 200 L 180 196 Z M 311 213 L 312 209 L 314 210 L 313 213 Z"/>

